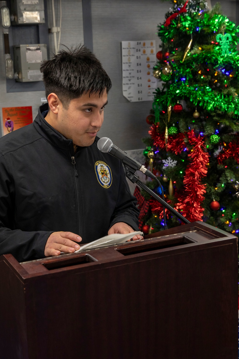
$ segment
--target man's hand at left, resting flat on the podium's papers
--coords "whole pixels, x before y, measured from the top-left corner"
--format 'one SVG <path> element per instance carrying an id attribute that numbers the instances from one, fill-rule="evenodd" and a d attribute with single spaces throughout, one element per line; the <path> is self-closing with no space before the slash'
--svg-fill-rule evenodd
<path id="1" fill-rule="evenodd" d="M 61 252 L 73 253 L 80 248 L 79 244 L 75 242 L 80 241 L 82 241 L 82 238 L 78 234 L 72 232 L 54 232 L 47 239 L 44 255 L 49 257 L 58 256 Z"/>

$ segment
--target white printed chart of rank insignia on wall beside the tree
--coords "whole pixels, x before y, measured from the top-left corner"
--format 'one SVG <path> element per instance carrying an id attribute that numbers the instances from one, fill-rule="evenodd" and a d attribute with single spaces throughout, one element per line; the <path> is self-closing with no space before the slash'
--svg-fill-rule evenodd
<path id="1" fill-rule="evenodd" d="M 157 88 L 153 76 L 155 40 L 122 41 L 123 95 L 130 102 L 152 101 Z"/>

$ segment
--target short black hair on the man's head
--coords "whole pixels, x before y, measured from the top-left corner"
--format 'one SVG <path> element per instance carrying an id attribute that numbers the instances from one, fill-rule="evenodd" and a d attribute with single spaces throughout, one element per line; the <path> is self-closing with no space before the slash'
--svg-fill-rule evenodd
<path id="1" fill-rule="evenodd" d="M 100 61 L 85 46 L 77 46 L 59 51 L 51 60 L 42 63 L 40 71 L 46 88 L 46 97 L 55 93 L 64 108 L 68 108 L 72 99 L 83 93 L 108 93 L 111 80 Z"/>

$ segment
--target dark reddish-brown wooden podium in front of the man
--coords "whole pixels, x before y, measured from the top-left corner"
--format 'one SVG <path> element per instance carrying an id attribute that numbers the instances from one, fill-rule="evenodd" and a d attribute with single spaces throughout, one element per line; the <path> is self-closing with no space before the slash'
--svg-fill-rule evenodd
<path id="1" fill-rule="evenodd" d="M 82 253 L 0 257 L 1 359 L 237 359 L 237 238 L 202 222 Z"/>

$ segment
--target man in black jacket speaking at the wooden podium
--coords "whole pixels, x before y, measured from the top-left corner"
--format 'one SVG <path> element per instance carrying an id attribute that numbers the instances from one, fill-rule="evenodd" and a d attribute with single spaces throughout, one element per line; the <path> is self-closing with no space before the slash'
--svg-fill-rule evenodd
<path id="1" fill-rule="evenodd" d="M 109 76 L 85 47 L 60 51 L 41 71 L 48 103 L 0 139 L 0 255 L 18 261 L 138 230 L 123 165 L 96 144 Z"/>

